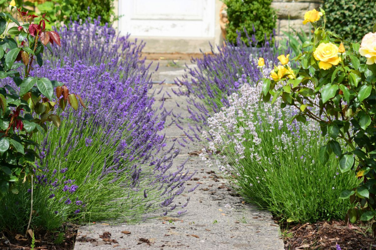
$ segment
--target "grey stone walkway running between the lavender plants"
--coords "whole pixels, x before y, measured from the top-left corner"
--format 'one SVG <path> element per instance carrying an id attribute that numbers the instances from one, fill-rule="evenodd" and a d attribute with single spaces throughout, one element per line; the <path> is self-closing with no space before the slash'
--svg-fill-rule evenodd
<path id="1" fill-rule="evenodd" d="M 156 96 L 157 103 L 164 91 L 171 94 L 165 97 L 164 107 L 167 110 L 173 108 L 175 114 L 181 113 L 186 117 L 186 102 L 182 97 L 173 95 L 171 89 L 176 88 L 168 82 L 182 74 L 180 66 L 167 66 L 162 61 L 158 74 L 153 75 L 154 81 L 161 81 L 167 78 L 167 84 L 154 84 L 157 90 L 164 87 L 163 91 Z M 188 63 L 187 63 L 188 64 Z M 179 64 L 181 65 L 181 64 Z M 158 92 L 158 91 L 156 91 Z M 180 108 L 176 107 L 176 102 Z M 170 119 L 167 120 L 170 123 Z M 180 124 L 188 128 L 186 123 Z M 171 125 L 165 128 L 168 143 L 174 138 L 185 137 L 182 130 Z M 179 145 L 178 145 L 179 146 Z M 169 147 L 166 147 L 169 148 Z M 192 250 L 229 250 L 229 249 L 250 249 L 250 250 L 283 250 L 284 243 L 280 237 L 279 226 L 274 224 L 271 214 L 261 211 L 255 206 L 244 204 L 241 197 L 237 196 L 223 179 L 219 178 L 212 169 L 203 164 L 197 155 L 190 153 L 200 150 L 201 145 L 190 143 L 181 148 L 180 155 L 174 160 L 174 166 L 179 166 L 189 157 L 185 167 L 190 172 L 198 170 L 194 179 L 188 182 L 187 187 L 194 187 L 197 183 L 200 186 L 190 193 L 188 211 L 177 215 L 171 213 L 170 217 L 151 219 L 141 224 L 118 224 L 103 225 L 100 223 L 90 224 L 79 228 L 77 240 L 83 236 L 91 238 L 91 242 L 76 242 L 74 250 L 87 249 L 192 249 Z M 187 196 L 182 195 L 174 202 L 182 205 Z M 228 205 L 230 206 L 228 206 Z M 156 215 L 159 215 L 160 212 Z M 122 231 L 130 233 L 125 234 Z M 103 241 L 99 235 L 111 233 L 113 242 Z"/>

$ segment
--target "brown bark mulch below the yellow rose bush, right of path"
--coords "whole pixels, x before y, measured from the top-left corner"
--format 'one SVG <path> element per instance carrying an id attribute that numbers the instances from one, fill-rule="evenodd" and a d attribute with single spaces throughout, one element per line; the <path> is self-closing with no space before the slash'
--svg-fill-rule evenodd
<path id="1" fill-rule="evenodd" d="M 282 228 L 286 226 L 281 225 Z M 344 221 L 320 221 L 290 225 L 284 236 L 285 249 L 337 249 L 341 250 L 372 250 L 376 242 L 370 234 L 367 224 L 356 224 L 352 229 Z"/>

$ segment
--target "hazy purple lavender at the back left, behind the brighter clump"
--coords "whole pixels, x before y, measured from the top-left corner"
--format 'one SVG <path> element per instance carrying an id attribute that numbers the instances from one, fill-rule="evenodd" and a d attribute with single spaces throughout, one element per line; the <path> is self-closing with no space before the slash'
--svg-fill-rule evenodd
<path id="1" fill-rule="evenodd" d="M 85 65 L 100 65 L 105 63 L 106 71 L 120 72 L 127 78 L 135 75 L 147 77 L 145 58 L 141 58 L 144 42 L 131 41 L 130 34 L 120 36 L 111 26 L 100 26 L 100 20 L 71 21 L 59 29 L 62 37 L 62 47 L 52 48 L 46 59 L 54 66 L 73 65 L 84 62 Z"/>

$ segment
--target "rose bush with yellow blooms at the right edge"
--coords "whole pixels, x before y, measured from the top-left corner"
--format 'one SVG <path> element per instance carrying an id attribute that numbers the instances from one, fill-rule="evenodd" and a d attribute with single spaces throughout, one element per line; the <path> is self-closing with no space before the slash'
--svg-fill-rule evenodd
<path id="1" fill-rule="evenodd" d="M 293 59 L 298 65 L 291 69 L 294 75 L 287 65 L 275 66 L 272 80 L 261 80 L 261 95 L 272 104 L 282 99 L 281 108 L 294 106 L 297 121 L 319 122 L 323 135 L 331 138 L 320 149 L 320 162 L 325 164 L 334 153 L 342 173 L 351 170 L 362 180 L 341 193 L 361 208 L 349 209 L 345 219 L 349 224 L 371 220 L 376 215 L 376 33 L 365 35 L 361 45 L 343 41 L 325 29 L 325 12 L 320 12 L 305 15 L 305 23 L 311 22 L 315 32 L 303 44 L 305 51 Z M 317 26 L 321 16 L 323 26 Z M 376 223 L 372 229 L 376 231 Z"/>

